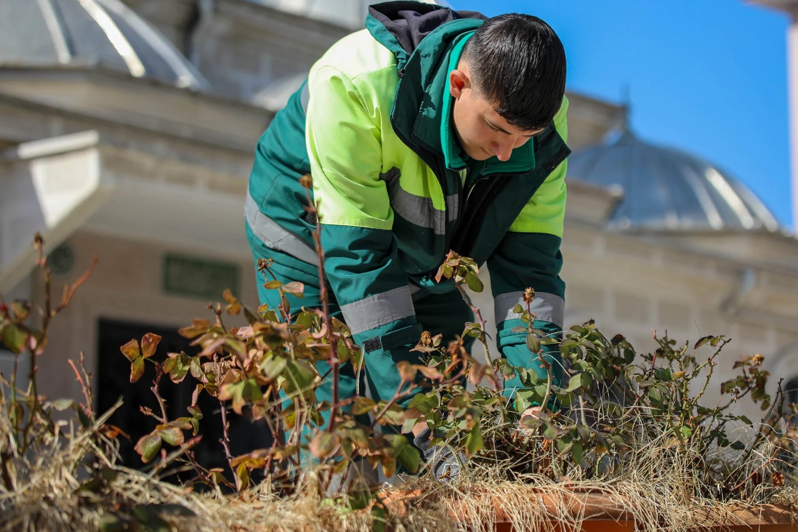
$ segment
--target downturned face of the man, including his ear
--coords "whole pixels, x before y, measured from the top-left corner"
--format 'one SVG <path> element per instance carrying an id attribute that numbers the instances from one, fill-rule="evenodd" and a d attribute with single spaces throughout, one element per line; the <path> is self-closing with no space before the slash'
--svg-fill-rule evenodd
<path id="1" fill-rule="evenodd" d="M 508 124 L 496 112 L 492 102 L 473 89 L 468 64 L 460 61 L 449 74 L 449 92 L 455 98 L 452 118 L 457 138 L 464 152 L 475 160 L 496 156 L 505 161 L 512 150 L 526 144 L 539 131 L 523 131 Z"/>

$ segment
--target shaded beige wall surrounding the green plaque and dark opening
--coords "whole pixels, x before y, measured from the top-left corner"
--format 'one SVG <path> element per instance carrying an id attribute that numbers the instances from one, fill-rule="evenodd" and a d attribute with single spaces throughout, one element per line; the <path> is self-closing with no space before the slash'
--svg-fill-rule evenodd
<path id="1" fill-rule="evenodd" d="M 243 229 L 243 228 L 242 228 Z M 136 324 L 168 327 L 175 330 L 191 325 L 192 318 L 213 319 L 205 305 L 211 301 L 164 294 L 162 264 L 166 253 L 199 256 L 211 260 L 236 262 L 241 268 L 241 299 L 257 308 L 255 269 L 249 256 L 208 256 L 196 250 L 161 247 L 120 238 L 78 233 L 67 241 L 74 254 L 74 266 L 65 276 L 53 275 L 53 294 L 61 297 L 61 287 L 73 282 L 89 266 L 94 254 L 99 262 L 93 274 L 70 302 L 64 313 L 53 320 L 49 349 L 38 361 L 39 389 L 50 397 L 81 397 L 68 360 L 77 361 L 85 353 L 90 372 L 97 368 L 97 322 L 101 318 Z M 34 293 L 41 301 L 41 280 L 31 274 Z M 222 294 L 215 301 L 222 301 Z M 228 325 L 246 325 L 243 317 L 228 317 Z M 116 353 L 113 353 L 116 354 Z M 119 364 L 126 365 L 121 353 Z M 96 381 L 93 383 L 97 389 Z"/>

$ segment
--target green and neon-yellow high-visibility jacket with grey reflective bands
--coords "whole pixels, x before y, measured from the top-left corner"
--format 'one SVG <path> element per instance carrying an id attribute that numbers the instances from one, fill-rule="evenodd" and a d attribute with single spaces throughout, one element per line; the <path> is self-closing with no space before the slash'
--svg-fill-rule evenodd
<path id="1" fill-rule="evenodd" d="M 366 29 L 313 65 L 264 132 L 247 223 L 272 249 L 314 262 L 315 220 L 298 183 L 312 175 L 326 275 L 366 357 L 417 343 L 411 294 L 456 290 L 434 280 L 448 250 L 487 262 L 500 352 L 545 375 L 525 335 L 512 332 L 521 325 L 513 309 L 531 286 L 535 328 L 562 329 L 568 102 L 509 160 L 468 158 L 448 73 L 484 20 L 420 2 L 372 6 Z"/>

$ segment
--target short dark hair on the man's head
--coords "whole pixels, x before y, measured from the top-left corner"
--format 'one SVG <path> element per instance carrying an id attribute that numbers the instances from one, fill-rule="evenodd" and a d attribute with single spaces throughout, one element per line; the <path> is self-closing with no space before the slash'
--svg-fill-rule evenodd
<path id="1" fill-rule="evenodd" d="M 546 128 L 565 94 L 565 49 L 546 22 L 510 13 L 486 21 L 463 51 L 472 85 L 524 131 Z"/>

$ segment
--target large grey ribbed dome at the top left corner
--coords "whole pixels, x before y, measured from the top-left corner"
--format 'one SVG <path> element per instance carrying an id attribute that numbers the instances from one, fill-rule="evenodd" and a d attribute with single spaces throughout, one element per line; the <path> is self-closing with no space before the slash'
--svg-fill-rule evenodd
<path id="1" fill-rule="evenodd" d="M 120 0 L 0 1 L 0 67 L 60 65 L 207 87 L 186 57 Z"/>

